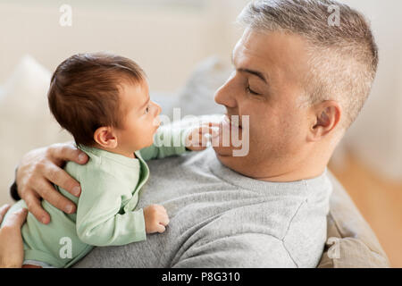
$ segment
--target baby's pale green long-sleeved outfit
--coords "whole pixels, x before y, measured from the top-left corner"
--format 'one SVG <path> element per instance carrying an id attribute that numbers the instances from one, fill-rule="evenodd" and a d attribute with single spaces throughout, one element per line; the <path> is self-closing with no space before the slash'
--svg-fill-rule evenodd
<path id="1" fill-rule="evenodd" d="M 88 163 L 68 162 L 64 170 L 80 181 L 80 198 L 55 186 L 77 204 L 77 213 L 65 214 L 43 200 L 42 206 L 50 214 L 51 222 L 39 223 L 33 214 L 28 214 L 27 222 L 21 228 L 24 259 L 68 267 L 88 254 L 93 246 L 124 245 L 146 240 L 143 210 L 135 209 L 139 190 L 149 177 L 145 160 L 186 152 L 183 140 L 178 140 L 185 135 L 185 131 L 161 127 L 154 145 L 136 151 L 137 158 L 79 146 L 88 155 Z M 171 146 L 158 147 L 166 136 L 170 136 L 168 142 Z M 23 200 L 13 205 L 7 214 L 21 207 L 26 207 Z"/>

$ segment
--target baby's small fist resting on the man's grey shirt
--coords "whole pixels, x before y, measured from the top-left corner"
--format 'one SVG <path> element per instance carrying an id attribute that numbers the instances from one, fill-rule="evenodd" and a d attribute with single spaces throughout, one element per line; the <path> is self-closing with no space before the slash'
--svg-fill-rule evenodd
<path id="1" fill-rule="evenodd" d="M 162 233 L 166 229 L 165 226 L 169 223 L 166 209 L 160 205 L 146 206 L 144 208 L 144 218 L 147 233 Z"/>

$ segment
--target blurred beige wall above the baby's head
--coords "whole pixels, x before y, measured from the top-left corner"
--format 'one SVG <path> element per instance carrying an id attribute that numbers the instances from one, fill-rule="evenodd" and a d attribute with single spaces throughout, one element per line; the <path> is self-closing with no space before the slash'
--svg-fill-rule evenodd
<path id="1" fill-rule="evenodd" d="M 136 0 L 66 1 L 72 8 L 71 27 L 59 25 L 63 3 L 0 3 L 0 85 L 24 54 L 54 70 L 72 54 L 108 50 L 140 63 L 151 88 L 174 91 L 206 56 L 229 58 L 232 36 L 227 25 L 245 1 L 205 0 L 197 6 L 172 7 Z M 226 4 L 229 8 L 222 7 Z"/>

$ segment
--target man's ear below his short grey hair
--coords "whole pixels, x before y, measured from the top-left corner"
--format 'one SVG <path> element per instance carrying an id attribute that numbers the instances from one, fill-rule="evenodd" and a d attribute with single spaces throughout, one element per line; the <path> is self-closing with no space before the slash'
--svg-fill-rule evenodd
<path id="1" fill-rule="evenodd" d="M 314 121 L 311 124 L 308 140 L 318 141 L 339 125 L 342 109 L 337 101 L 326 100 L 314 106 Z"/>

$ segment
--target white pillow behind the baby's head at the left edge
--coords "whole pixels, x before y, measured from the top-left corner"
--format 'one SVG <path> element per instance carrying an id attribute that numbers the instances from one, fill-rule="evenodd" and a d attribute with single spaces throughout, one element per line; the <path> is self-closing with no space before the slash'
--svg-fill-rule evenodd
<path id="1" fill-rule="evenodd" d="M 47 107 L 50 78 L 50 71 L 25 55 L 0 88 L 0 203 L 10 201 L 8 187 L 21 156 L 35 147 L 71 140 Z"/>

